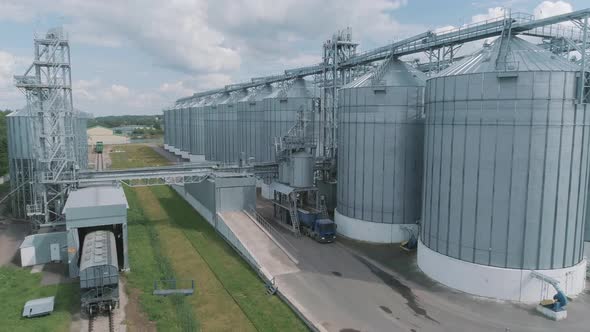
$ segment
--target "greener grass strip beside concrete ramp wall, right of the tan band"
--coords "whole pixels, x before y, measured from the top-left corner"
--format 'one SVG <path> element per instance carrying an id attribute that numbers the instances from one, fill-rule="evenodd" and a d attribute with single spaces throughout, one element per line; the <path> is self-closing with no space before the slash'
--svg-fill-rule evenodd
<path id="1" fill-rule="evenodd" d="M 258 275 L 182 197 L 169 187 L 153 187 L 169 220 L 182 229 L 193 248 L 259 331 L 307 331 L 278 297 L 265 293 Z"/>

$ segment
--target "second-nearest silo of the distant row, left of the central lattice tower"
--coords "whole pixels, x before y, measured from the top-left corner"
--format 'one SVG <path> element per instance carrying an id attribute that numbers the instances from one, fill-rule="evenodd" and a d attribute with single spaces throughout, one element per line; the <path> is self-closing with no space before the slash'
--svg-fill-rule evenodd
<path id="1" fill-rule="evenodd" d="M 246 158 L 254 158 L 255 161 L 263 160 L 264 156 L 262 147 L 264 135 L 262 100 L 272 92 L 272 86 L 265 85 L 237 103 L 239 151 L 244 152 Z"/>

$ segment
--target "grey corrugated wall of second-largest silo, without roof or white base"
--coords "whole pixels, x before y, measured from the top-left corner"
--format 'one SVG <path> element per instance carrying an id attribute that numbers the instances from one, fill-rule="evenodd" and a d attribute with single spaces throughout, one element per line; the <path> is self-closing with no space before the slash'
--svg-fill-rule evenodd
<path id="1" fill-rule="evenodd" d="M 423 87 L 340 90 L 339 213 L 388 224 L 420 218 L 423 93 Z"/>

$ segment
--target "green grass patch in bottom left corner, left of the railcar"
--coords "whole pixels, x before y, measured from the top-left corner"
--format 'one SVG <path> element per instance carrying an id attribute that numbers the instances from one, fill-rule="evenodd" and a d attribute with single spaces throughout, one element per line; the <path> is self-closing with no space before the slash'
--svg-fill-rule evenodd
<path id="1" fill-rule="evenodd" d="M 0 267 L 0 329 L 2 331 L 68 331 L 72 314 L 80 311 L 77 283 L 41 286 L 41 273 L 29 269 Z M 28 300 L 55 296 L 51 315 L 22 318 Z"/>

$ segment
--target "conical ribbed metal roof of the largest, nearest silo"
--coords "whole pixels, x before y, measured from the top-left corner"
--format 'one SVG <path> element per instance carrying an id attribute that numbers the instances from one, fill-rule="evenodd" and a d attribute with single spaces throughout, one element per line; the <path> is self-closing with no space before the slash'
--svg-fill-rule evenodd
<path id="1" fill-rule="evenodd" d="M 580 67 L 563 57 L 531 44 L 526 40 L 512 36 L 505 40 L 507 45 L 502 45 L 501 38 L 496 39 L 492 45 L 484 46 L 480 51 L 467 57 L 449 68 L 441 71 L 437 76 L 465 75 L 473 73 L 488 73 L 505 71 L 505 67 L 497 69 L 496 60 L 502 57 L 500 50 L 506 47 L 504 59 L 498 60 L 511 71 L 579 71 Z M 502 52 L 503 53 L 503 52 Z"/>

